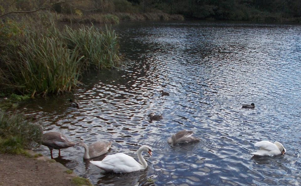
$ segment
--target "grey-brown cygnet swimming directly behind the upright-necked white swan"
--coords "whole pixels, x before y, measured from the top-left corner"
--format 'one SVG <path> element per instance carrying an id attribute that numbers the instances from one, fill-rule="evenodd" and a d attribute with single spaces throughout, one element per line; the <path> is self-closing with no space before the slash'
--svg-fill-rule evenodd
<path id="1" fill-rule="evenodd" d="M 96 142 L 92 145 L 87 146 L 87 144 L 83 141 L 79 142 L 78 146 L 85 148 L 84 159 L 95 158 L 101 156 L 108 152 L 111 148 L 112 141 L 108 143 L 104 142 Z"/>

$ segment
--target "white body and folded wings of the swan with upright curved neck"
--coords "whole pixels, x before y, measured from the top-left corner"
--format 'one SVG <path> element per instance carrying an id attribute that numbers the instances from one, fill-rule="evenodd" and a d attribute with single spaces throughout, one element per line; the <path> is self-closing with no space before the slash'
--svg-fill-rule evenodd
<path id="1" fill-rule="evenodd" d="M 129 173 L 143 168 L 134 158 L 124 153 L 108 155 L 102 161 L 91 161 L 91 163 L 115 173 Z"/>

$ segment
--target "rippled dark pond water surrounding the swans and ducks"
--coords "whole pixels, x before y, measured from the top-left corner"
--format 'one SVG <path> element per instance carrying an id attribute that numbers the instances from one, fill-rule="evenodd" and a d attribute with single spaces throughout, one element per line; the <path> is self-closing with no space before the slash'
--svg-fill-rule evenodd
<path id="1" fill-rule="evenodd" d="M 72 94 L 36 99 L 24 110 L 71 140 L 114 141 L 108 154 L 138 160 L 137 149 L 149 145 L 148 168 L 104 173 L 82 159 L 83 147 L 63 149 L 56 161 L 95 185 L 148 185 L 149 178 L 152 185 L 301 185 L 300 25 L 139 22 L 114 29 L 126 67 L 91 74 Z M 255 109 L 241 108 L 251 102 Z M 150 123 L 150 113 L 163 120 Z M 201 141 L 169 146 L 182 129 Z M 279 141 L 287 153 L 252 158 L 261 140 Z M 47 147 L 37 151 L 50 157 Z"/>

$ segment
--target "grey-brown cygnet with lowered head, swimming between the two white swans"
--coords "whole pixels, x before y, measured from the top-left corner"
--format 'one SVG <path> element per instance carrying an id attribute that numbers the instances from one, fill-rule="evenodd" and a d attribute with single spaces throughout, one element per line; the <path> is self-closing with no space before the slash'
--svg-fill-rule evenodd
<path id="1" fill-rule="evenodd" d="M 172 137 L 170 137 L 167 142 L 171 145 L 176 145 L 200 141 L 199 138 L 193 137 L 192 135 L 193 131 L 182 130 L 176 134 L 172 134 Z"/>

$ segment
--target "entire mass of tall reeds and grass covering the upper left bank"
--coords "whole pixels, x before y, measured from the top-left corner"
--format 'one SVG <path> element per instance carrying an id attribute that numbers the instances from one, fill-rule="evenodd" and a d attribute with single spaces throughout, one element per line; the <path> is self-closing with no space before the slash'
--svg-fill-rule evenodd
<path id="1" fill-rule="evenodd" d="M 0 22 L 0 91 L 32 96 L 60 94 L 74 89 L 87 69 L 119 66 L 114 31 L 94 26 L 65 26 L 60 30 L 55 14 L 37 14 L 21 21 Z"/>

